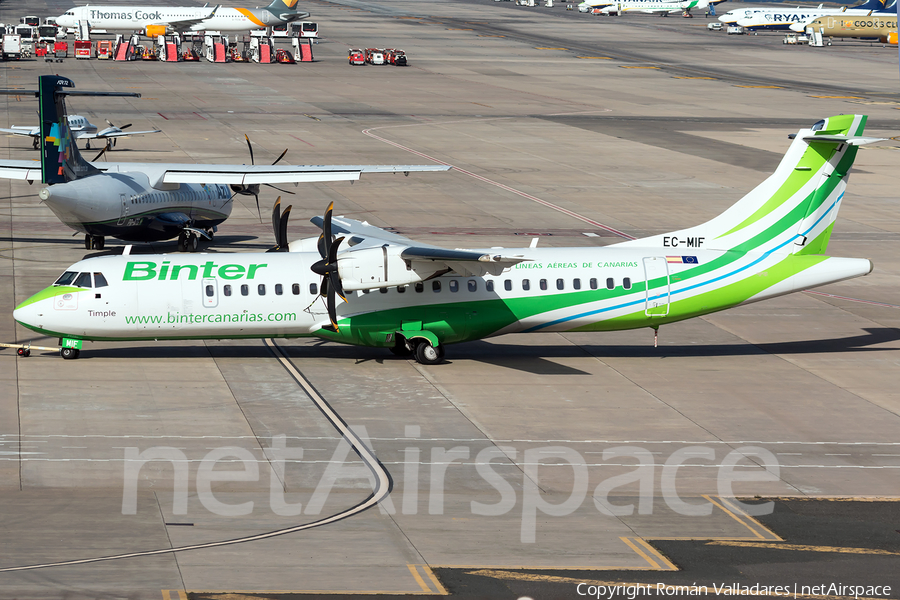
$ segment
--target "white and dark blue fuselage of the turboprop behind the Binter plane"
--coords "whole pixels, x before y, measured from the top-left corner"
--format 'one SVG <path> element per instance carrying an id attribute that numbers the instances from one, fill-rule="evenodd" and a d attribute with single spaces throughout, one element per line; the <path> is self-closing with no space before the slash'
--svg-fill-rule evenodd
<path id="1" fill-rule="evenodd" d="M 185 226 L 212 229 L 231 214 L 227 185 L 169 184 L 142 172 L 106 172 L 48 186 L 40 197 L 60 221 L 87 235 L 129 242 L 172 239 Z"/>

